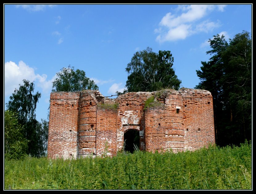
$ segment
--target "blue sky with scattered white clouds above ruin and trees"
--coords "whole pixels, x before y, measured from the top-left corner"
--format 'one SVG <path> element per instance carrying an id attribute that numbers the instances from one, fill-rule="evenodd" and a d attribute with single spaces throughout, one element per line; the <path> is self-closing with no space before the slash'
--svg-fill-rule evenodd
<path id="1" fill-rule="evenodd" d="M 252 31 L 252 5 L 4 5 L 4 99 L 23 79 L 41 92 L 47 119 L 52 81 L 63 67 L 84 70 L 104 96 L 122 91 L 136 51 L 169 50 L 181 87 L 194 88 L 209 38 Z"/>

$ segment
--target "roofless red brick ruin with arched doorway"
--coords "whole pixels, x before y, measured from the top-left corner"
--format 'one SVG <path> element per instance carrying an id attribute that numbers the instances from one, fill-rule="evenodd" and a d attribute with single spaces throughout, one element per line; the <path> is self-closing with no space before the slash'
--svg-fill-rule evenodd
<path id="1" fill-rule="evenodd" d="M 144 108 L 151 96 L 157 105 Z M 84 90 L 54 92 L 50 99 L 49 158 L 114 156 L 130 130 L 139 133 L 139 149 L 149 152 L 215 143 L 213 100 L 206 90 L 129 92 L 116 99 Z"/>

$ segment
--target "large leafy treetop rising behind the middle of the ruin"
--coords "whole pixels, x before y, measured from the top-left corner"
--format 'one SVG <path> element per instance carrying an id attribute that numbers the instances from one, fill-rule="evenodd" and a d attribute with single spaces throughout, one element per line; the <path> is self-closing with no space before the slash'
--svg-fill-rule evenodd
<path id="1" fill-rule="evenodd" d="M 126 67 L 128 78 L 125 92 L 157 91 L 162 88 L 178 90 L 181 81 L 172 68 L 173 60 L 171 51 L 155 53 L 147 47 L 136 52 Z"/>

